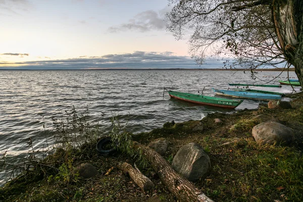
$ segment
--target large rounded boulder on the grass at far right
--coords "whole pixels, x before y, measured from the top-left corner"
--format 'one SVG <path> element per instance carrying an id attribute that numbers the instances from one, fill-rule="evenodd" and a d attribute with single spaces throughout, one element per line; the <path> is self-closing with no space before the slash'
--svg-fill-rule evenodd
<path id="1" fill-rule="evenodd" d="M 294 139 L 291 129 L 277 122 L 261 123 L 255 126 L 252 128 L 252 135 L 260 144 L 277 142 L 277 144 L 287 145 Z"/>

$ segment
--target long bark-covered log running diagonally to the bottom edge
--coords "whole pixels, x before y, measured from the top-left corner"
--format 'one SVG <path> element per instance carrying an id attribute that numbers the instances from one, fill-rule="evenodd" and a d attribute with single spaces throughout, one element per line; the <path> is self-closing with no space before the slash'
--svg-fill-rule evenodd
<path id="1" fill-rule="evenodd" d="M 154 149 L 143 146 L 135 141 L 132 146 L 150 163 L 151 167 L 153 167 L 153 169 L 158 173 L 161 181 L 166 185 L 170 192 L 179 199 L 179 201 L 213 201 L 187 179 L 179 175 Z"/>

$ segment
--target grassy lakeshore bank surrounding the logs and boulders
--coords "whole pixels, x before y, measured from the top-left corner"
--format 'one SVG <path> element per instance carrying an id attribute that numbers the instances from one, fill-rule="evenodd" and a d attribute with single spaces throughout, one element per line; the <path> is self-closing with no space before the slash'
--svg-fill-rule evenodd
<path id="1" fill-rule="evenodd" d="M 209 114 L 200 120 L 205 126 L 202 132 L 192 132 L 190 128 L 195 122 L 188 121 L 167 123 L 163 128 L 136 134 L 133 138 L 142 144 L 159 137 L 167 138 L 170 144 L 164 158 L 169 162 L 186 143 L 196 142 L 203 146 L 210 156 L 212 172 L 195 186 L 215 201 L 300 201 L 303 198 L 303 95 L 296 94 L 293 98 L 289 110 L 270 110 L 261 106 L 258 110 L 243 110 L 232 115 Z M 256 118 L 258 115 L 262 116 Z M 175 201 L 150 167 L 143 168 L 136 158 L 121 153 L 108 157 L 98 155 L 95 144 L 102 128 L 91 127 L 83 122 L 84 117 L 79 118 L 81 116 L 75 117 L 74 121 L 79 122 L 74 126 L 82 128 L 85 138 L 78 145 L 61 145 L 54 154 L 0 188 L 0 200 Z M 215 124 L 215 118 L 223 123 Z M 251 128 L 268 119 L 290 127 L 296 141 L 290 146 L 257 144 Z M 73 136 L 60 124 L 57 132 L 65 133 L 61 137 L 73 142 Z M 155 183 L 155 189 L 143 193 L 116 168 L 117 162 L 136 163 Z M 78 178 L 73 171 L 82 163 L 92 164 L 99 174 L 89 180 Z"/>

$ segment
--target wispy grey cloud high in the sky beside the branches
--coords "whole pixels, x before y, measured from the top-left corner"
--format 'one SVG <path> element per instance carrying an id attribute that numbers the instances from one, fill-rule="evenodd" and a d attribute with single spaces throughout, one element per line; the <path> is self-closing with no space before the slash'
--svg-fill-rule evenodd
<path id="1" fill-rule="evenodd" d="M 137 14 L 130 19 L 128 23 L 123 23 L 118 26 L 111 26 L 108 28 L 110 33 L 117 33 L 121 31 L 134 30 L 140 32 L 147 32 L 151 30 L 164 30 L 165 21 L 164 15 L 168 9 L 162 9 L 159 12 L 148 10 Z"/>

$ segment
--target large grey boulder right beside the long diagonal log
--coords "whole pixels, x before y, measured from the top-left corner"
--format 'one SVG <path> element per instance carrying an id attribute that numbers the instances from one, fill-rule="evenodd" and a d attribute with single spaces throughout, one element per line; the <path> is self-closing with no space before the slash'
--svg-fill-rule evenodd
<path id="1" fill-rule="evenodd" d="M 203 147 L 192 142 L 178 150 L 172 167 L 189 181 L 194 182 L 207 177 L 211 170 L 211 161 Z"/>

